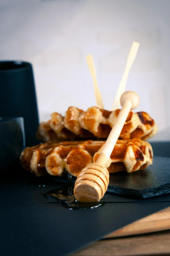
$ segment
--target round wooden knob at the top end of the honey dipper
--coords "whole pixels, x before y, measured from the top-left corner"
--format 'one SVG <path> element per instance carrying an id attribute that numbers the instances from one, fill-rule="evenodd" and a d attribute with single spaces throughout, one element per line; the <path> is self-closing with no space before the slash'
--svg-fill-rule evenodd
<path id="1" fill-rule="evenodd" d="M 132 92 L 132 91 L 127 91 L 121 95 L 121 97 L 120 97 L 121 106 L 123 106 L 123 104 L 126 100 L 129 100 L 132 102 L 131 110 L 137 108 L 137 106 L 139 105 L 139 102 L 140 102 L 139 96 L 135 92 Z"/>

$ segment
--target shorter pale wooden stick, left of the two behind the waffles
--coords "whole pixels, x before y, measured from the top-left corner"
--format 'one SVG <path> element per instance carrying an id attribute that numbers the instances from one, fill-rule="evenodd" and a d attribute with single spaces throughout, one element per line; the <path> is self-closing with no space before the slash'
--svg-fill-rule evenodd
<path id="1" fill-rule="evenodd" d="M 87 60 L 90 74 L 92 76 L 92 81 L 93 81 L 93 86 L 94 86 L 94 94 L 95 94 L 95 98 L 96 98 L 97 107 L 100 109 L 104 109 L 102 95 L 100 93 L 99 86 L 97 83 L 96 70 L 95 70 L 92 54 L 87 55 L 86 60 Z"/>

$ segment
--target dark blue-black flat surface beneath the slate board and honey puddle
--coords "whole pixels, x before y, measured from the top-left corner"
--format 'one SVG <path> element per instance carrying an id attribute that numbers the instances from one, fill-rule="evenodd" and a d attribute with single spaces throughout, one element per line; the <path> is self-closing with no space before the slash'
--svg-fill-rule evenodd
<path id="1" fill-rule="evenodd" d="M 170 143 L 152 143 L 152 146 L 155 155 L 170 156 L 167 153 Z M 114 202 L 102 207 L 71 211 L 60 203 L 45 203 L 47 198 L 41 195 L 61 184 L 49 177 L 35 177 L 20 167 L 2 174 L 0 183 L 3 256 L 68 255 L 170 206 L 169 194 L 156 201 L 120 200 L 122 197 L 114 194 Z"/>

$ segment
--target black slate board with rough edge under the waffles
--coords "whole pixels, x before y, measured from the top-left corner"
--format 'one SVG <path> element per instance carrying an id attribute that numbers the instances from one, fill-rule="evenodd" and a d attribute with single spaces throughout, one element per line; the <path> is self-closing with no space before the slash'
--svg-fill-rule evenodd
<path id="1" fill-rule="evenodd" d="M 170 193 L 170 158 L 154 157 L 145 170 L 111 174 L 107 191 L 141 198 Z"/>

